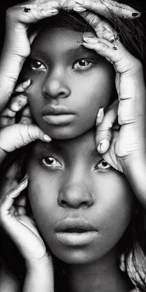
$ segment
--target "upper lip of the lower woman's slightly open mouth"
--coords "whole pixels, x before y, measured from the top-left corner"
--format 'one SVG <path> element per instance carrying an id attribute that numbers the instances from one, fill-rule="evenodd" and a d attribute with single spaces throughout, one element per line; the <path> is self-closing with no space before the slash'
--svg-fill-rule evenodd
<path id="1" fill-rule="evenodd" d="M 56 224 L 55 231 L 62 232 L 68 228 L 82 228 L 86 231 L 97 231 L 97 229 L 95 229 L 95 227 L 84 218 L 66 218 Z"/>

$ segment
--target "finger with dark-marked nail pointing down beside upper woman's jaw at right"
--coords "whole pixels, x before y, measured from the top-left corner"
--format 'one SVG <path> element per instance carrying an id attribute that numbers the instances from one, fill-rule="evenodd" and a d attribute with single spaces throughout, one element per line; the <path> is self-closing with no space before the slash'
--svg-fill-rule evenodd
<path id="1" fill-rule="evenodd" d="M 100 154 L 105 153 L 112 138 L 112 126 L 117 119 L 119 100 L 115 100 L 108 108 L 102 123 L 97 127 L 95 133 L 95 142 Z"/>

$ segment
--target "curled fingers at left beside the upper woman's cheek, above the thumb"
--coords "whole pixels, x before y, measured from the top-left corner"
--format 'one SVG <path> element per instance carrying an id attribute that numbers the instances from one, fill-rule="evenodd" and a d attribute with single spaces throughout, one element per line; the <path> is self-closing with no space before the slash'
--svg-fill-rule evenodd
<path id="1" fill-rule="evenodd" d="M 20 124 L 32 124 L 32 114 L 27 100 L 25 92 L 30 86 L 30 79 L 19 84 L 13 94 L 14 97 L 11 97 L 11 100 L 8 102 L 6 108 L 0 114 L 0 128 L 10 126 L 16 123 L 17 113 L 20 112 L 19 123 Z M 16 93 L 19 93 L 16 95 Z"/>

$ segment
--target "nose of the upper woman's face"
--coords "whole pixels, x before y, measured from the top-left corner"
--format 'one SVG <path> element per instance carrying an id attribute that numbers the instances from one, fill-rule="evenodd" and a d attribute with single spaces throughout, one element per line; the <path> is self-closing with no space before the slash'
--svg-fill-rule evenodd
<path id="1" fill-rule="evenodd" d="M 41 90 L 45 98 L 67 98 L 71 94 L 69 86 L 66 84 L 66 77 L 59 72 L 50 73 Z"/>

